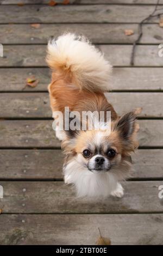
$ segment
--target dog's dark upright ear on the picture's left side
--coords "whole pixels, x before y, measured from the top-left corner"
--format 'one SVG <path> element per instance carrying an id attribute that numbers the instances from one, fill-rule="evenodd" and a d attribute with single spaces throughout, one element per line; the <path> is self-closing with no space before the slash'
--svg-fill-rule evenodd
<path id="1" fill-rule="evenodd" d="M 69 138 L 74 138 L 79 134 L 80 127 L 80 116 L 78 112 L 69 112 L 65 119 L 65 132 Z"/>

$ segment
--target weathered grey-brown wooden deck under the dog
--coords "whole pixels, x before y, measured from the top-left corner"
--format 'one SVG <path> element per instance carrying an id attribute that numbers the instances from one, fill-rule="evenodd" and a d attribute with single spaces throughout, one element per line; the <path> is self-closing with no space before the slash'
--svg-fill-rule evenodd
<path id="1" fill-rule="evenodd" d="M 138 23 L 156 0 L 71 0 L 54 7 L 48 2 L 0 0 L 0 244 L 95 245 L 98 227 L 112 245 L 163 244 L 163 199 L 158 196 L 163 185 L 163 57 L 158 56 L 163 28 L 157 17 L 143 25 L 130 66 Z M 160 4 L 163 8 L 163 0 Z M 134 34 L 126 36 L 125 29 Z M 122 199 L 87 202 L 62 182 L 45 55 L 49 36 L 65 31 L 86 35 L 114 65 L 106 96 L 119 114 L 142 107 L 140 148 L 133 156 L 133 176 L 123 182 Z M 24 88 L 31 75 L 39 84 Z"/>

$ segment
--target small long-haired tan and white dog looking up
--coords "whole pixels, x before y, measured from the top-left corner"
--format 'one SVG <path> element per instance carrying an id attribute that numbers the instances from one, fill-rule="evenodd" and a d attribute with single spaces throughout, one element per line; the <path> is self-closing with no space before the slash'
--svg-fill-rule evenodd
<path id="1" fill-rule="evenodd" d="M 112 66 L 87 39 L 70 33 L 49 40 L 46 61 L 52 69 L 52 112 L 64 114 L 68 107 L 70 113 L 111 113 L 110 130 L 56 127 L 65 153 L 65 183 L 75 186 L 77 197 L 122 197 L 120 181 L 129 177 L 130 155 L 138 147 L 136 115 L 131 111 L 120 117 L 106 100 Z"/>

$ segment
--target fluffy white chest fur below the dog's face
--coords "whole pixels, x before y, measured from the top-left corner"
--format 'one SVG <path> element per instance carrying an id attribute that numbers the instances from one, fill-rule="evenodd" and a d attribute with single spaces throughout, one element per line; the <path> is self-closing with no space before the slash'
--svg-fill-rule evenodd
<path id="1" fill-rule="evenodd" d="M 65 166 L 65 183 L 75 185 L 78 197 L 108 197 L 116 189 L 117 177 L 109 172 L 90 172 L 80 160 L 76 157 Z"/>

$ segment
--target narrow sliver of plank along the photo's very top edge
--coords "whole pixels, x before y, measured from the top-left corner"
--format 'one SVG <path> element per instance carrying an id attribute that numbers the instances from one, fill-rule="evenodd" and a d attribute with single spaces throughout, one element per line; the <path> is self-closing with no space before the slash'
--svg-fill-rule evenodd
<path id="1" fill-rule="evenodd" d="M 55 0 L 61 4 L 63 0 Z M 156 0 L 70 0 L 70 4 L 156 4 Z M 48 4 L 49 0 L 23 0 L 23 4 Z M 22 0 L 0 0 L 0 4 L 22 4 Z M 159 4 L 163 4 L 160 0 Z"/>

